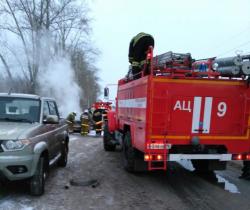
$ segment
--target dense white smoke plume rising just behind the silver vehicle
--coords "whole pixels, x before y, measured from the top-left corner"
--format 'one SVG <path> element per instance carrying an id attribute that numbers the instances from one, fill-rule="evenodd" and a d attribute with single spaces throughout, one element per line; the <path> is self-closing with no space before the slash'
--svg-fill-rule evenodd
<path id="1" fill-rule="evenodd" d="M 49 61 L 47 68 L 39 76 L 39 86 L 42 95 L 57 100 L 61 116 L 70 112 L 81 112 L 81 89 L 75 82 L 74 71 L 70 59 L 56 57 Z"/>

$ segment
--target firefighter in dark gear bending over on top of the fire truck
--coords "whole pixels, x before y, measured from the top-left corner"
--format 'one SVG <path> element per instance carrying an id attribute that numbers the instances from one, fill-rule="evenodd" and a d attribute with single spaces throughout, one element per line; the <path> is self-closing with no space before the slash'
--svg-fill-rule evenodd
<path id="1" fill-rule="evenodd" d="M 154 47 L 154 38 L 150 34 L 143 32 L 137 34 L 130 41 L 128 59 L 132 66 L 133 79 L 141 77 L 140 72 L 146 62 L 149 46 Z"/>

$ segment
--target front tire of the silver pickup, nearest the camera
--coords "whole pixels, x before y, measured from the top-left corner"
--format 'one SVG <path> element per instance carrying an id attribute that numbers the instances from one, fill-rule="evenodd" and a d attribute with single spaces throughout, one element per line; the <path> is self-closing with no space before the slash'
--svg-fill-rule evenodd
<path id="1" fill-rule="evenodd" d="M 46 170 L 45 170 L 45 161 L 44 157 L 40 157 L 35 174 L 31 177 L 29 181 L 30 185 L 30 194 L 33 196 L 40 196 L 44 193 L 44 186 L 45 186 L 45 177 L 46 177 Z"/>

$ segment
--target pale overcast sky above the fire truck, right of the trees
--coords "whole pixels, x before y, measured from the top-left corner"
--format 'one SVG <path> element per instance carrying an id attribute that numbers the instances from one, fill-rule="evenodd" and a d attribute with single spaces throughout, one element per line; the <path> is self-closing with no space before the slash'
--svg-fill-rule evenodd
<path id="1" fill-rule="evenodd" d="M 101 85 L 128 71 L 128 46 L 153 35 L 154 54 L 190 52 L 195 59 L 250 53 L 249 0 L 89 0 Z"/>

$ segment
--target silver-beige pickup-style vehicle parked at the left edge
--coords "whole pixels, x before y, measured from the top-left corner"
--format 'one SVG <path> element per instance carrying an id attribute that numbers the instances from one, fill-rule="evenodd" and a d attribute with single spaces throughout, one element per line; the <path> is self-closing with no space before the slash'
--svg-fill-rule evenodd
<path id="1" fill-rule="evenodd" d="M 68 142 L 55 100 L 0 93 L 0 181 L 28 180 L 42 195 L 49 166 L 67 164 Z"/>

